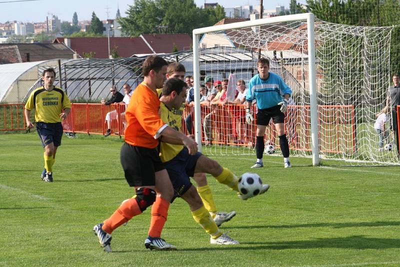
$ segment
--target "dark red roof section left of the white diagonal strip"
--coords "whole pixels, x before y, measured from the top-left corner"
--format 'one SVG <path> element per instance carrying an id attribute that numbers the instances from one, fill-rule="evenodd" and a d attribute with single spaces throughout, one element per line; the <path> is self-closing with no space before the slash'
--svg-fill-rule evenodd
<path id="1" fill-rule="evenodd" d="M 83 57 L 83 53 L 95 52 L 94 58 L 108 58 L 107 37 L 71 37 L 70 48 Z M 63 42 L 64 38 L 56 38 L 54 42 Z M 120 57 L 132 54 L 150 54 L 152 51 L 140 37 L 110 37 L 109 49 L 116 50 Z"/>

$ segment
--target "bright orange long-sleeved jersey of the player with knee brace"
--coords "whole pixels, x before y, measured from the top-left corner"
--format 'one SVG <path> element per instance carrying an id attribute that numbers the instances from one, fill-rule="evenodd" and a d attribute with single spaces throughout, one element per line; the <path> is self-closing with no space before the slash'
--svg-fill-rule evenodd
<path id="1" fill-rule="evenodd" d="M 167 126 L 158 114 L 159 103 L 157 93 L 144 82 L 134 89 L 125 112 L 125 142 L 147 148 L 157 147 L 159 133 Z"/>

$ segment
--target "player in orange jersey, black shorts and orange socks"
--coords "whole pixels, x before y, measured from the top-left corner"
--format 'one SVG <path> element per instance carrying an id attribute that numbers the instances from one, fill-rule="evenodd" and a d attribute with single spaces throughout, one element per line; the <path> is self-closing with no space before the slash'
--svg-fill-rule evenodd
<path id="1" fill-rule="evenodd" d="M 148 56 L 142 65 L 144 80 L 133 91 L 126 108 L 125 142 L 120 151 L 120 161 L 129 186 L 135 196 L 123 201 L 114 213 L 93 231 L 104 251 L 111 252 L 111 233 L 114 229 L 151 207 L 151 221 L 144 245 L 149 249 L 175 250 L 176 247 L 162 239 L 161 231 L 166 221 L 173 188 L 167 171 L 158 154 L 159 138 L 183 144 L 190 154 L 197 152 L 196 142 L 164 123 L 159 114 L 160 101 L 156 88 L 162 87 L 168 63 L 157 55 Z"/>

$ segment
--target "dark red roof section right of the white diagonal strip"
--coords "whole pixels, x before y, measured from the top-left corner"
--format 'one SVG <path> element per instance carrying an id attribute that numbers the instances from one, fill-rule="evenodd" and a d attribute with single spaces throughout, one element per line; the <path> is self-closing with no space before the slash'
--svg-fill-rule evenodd
<path id="1" fill-rule="evenodd" d="M 171 53 L 175 44 L 178 51 L 189 50 L 193 41 L 187 33 L 142 34 L 156 53 Z"/>

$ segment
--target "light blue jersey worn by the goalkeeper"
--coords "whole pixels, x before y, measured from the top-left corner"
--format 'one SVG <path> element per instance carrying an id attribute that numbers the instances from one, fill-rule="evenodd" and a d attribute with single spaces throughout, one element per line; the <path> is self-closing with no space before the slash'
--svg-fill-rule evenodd
<path id="1" fill-rule="evenodd" d="M 248 82 L 246 101 L 252 102 L 255 99 L 259 109 L 277 105 L 283 101 L 285 93 L 291 95 L 291 89 L 281 77 L 270 71 L 268 73 L 266 80 L 261 79 L 257 74 Z"/>

